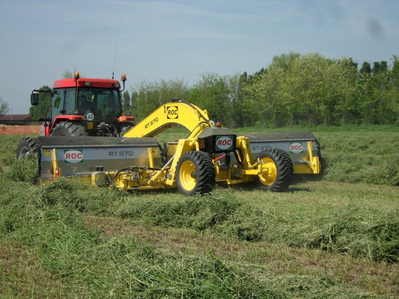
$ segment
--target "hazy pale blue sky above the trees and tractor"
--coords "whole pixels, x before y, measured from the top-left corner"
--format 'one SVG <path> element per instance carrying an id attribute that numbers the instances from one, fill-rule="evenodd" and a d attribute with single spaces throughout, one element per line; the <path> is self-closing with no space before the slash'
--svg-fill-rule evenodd
<path id="1" fill-rule="evenodd" d="M 390 65 L 398 16 L 397 0 L 0 0 L 0 97 L 9 114 L 26 114 L 32 90 L 65 70 L 111 78 L 115 69 L 128 90 L 143 80 L 191 86 L 206 72 L 254 73 L 290 51 Z"/>

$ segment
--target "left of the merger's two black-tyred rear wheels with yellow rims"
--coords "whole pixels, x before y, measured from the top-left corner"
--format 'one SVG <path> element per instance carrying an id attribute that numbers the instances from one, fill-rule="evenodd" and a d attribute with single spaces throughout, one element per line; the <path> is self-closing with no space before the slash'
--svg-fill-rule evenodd
<path id="1" fill-rule="evenodd" d="M 182 194 L 208 193 L 215 185 L 215 177 L 212 159 L 202 151 L 188 151 L 177 162 L 176 185 Z"/>

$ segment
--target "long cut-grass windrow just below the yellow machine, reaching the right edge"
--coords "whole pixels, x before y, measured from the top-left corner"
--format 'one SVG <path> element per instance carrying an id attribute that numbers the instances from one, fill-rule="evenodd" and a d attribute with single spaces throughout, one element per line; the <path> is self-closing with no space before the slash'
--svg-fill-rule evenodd
<path id="1" fill-rule="evenodd" d="M 163 194 L 164 198 L 168 193 Z M 259 210 L 237 198 L 231 189 L 215 189 L 209 195 L 143 200 L 111 189 L 88 188 L 79 181 L 59 179 L 32 187 L 39 207 L 61 204 L 97 215 L 132 218 L 155 226 L 191 228 L 225 234 L 239 240 L 265 241 L 290 246 L 319 248 L 373 261 L 397 262 L 399 256 L 398 209 L 381 210 L 372 205 L 347 206 L 327 216 L 294 215 L 287 218 L 275 210 Z M 3 232 L 18 221 L 5 213 Z"/>

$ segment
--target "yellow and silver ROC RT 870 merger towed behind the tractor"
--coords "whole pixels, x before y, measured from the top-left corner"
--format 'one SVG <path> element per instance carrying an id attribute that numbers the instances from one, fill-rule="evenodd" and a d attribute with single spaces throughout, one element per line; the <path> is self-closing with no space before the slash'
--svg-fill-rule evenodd
<path id="1" fill-rule="evenodd" d="M 187 138 L 163 146 L 152 138 L 175 124 L 191 132 Z M 174 100 L 123 137 L 38 137 L 39 179 L 76 177 L 127 191 L 177 187 L 186 195 L 252 181 L 263 190 L 284 191 L 293 173 L 320 173 L 320 145 L 309 132 L 279 134 L 237 136 L 209 120 L 206 110 Z"/>

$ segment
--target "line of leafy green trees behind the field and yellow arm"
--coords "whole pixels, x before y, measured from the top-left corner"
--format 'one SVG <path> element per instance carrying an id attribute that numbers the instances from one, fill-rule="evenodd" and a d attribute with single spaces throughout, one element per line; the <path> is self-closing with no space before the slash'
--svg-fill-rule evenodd
<path id="1" fill-rule="evenodd" d="M 364 62 L 358 69 L 352 58 L 290 52 L 251 75 L 204 73 L 192 86 L 178 78 L 142 81 L 122 93 L 122 109 L 142 120 L 161 104 L 182 99 L 229 127 L 394 124 L 399 122 L 397 55 L 391 61 L 373 67 Z M 31 114 L 43 117 L 36 107 Z"/>

